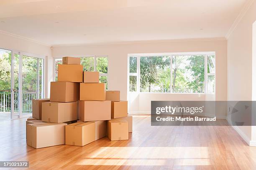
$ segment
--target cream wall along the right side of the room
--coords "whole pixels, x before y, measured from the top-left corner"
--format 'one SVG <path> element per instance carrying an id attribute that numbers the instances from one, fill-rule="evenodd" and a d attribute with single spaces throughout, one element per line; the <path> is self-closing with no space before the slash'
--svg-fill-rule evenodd
<path id="1" fill-rule="evenodd" d="M 252 56 L 252 33 L 255 21 L 256 2 L 254 1 L 228 37 L 228 100 L 251 101 L 256 99 L 256 56 L 255 58 Z M 256 132 L 253 127 L 234 128 L 248 144 L 255 142 L 253 140 L 255 140 Z"/>

